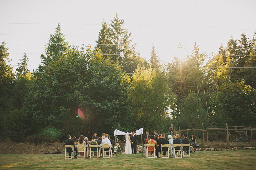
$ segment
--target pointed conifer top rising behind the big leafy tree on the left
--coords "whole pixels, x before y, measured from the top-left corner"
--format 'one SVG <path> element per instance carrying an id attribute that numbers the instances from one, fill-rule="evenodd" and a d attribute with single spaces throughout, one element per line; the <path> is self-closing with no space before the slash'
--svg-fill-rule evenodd
<path id="1" fill-rule="evenodd" d="M 45 55 L 41 55 L 43 65 L 58 60 L 69 50 L 68 42 L 65 42 L 64 35 L 61 33 L 60 24 L 55 29 L 55 34 L 50 34 L 49 43 L 45 46 Z"/>

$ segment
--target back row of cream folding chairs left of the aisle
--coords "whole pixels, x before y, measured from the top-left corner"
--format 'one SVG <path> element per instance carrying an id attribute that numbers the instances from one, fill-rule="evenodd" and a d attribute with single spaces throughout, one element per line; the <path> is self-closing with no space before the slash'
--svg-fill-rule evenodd
<path id="1" fill-rule="evenodd" d="M 85 152 L 87 152 L 87 157 L 89 157 L 88 153 L 89 153 L 89 147 L 90 147 L 90 158 L 100 158 L 102 155 L 102 158 L 111 158 L 113 153 L 112 153 L 112 144 L 103 144 L 102 146 L 102 153 L 101 153 L 101 145 L 75 145 L 75 147 L 77 148 L 77 158 L 78 159 L 85 159 Z M 67 156 L 67 148 L 72 148 L 73 152 L 71 153 L 71 156 Z M 91 148 L 97 148 L 97 151 L 91 151 Z M 83 151 L 79 151 L 83 150 Z M 106 150 L 109 149 L 109 150 Z M 73 145 L 65 145 L 65 159 L 72 159 L 74 157 L 74 146 Z M 106 153 L 109 152 L 109 155 L 107 155 Z M 79 153 L 83 153 L 83 156 L 79 156 Z M 80 154 L 81 155 L 81 154 Z"/>

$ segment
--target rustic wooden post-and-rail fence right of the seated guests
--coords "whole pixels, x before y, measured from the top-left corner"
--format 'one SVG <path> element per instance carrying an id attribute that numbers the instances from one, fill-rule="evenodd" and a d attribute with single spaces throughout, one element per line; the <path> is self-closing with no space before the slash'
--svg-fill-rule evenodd
<path id="1" fill-rule="evenodd" d="M 225 131 L 227 146 L 230 147 L 230 141 L 232 139 L 236 140 L 236 142 L 238 142 L 240 139 L 243 139 L 244 142 L 248 142 L 248 134 L 247 134 L 248 130 L 250 130 L 251 144 L 253 145 L 252 130 L 256 130 L 256 127 L 252 127 L 252 125 L 250 125 L 250 127 L 247 127 L 247 126 L 228 126 L 227 123 L 226 123 L 226 127 L 223 127 L 223 128 L 207 128 L 207 129 L 204 129 L 204 125 L 202 123 L 202 129 L 184 129 L 184 130 L 181 130 L 180 127 L 177 130 L 177 127 L 173 127 L 173 125 L 171 125 L 170 134 L 171 135 L 176 135 L 178 133 L 178 134 L 180 134 L 180 138 L 182 138 L 181 132 L 185 131 L 185 132 L 187 132 L 187 135 L 189 135 L 188 131 L 193 131 L 193 133 L 195 133 L 195 131 L 202 131 L 203 132 L 203 144 L 204 144 L 204 142 L 206 141 L 205 140 L 205 131 L 206 131 L 207 141 L 209 141 L 208 140 L 208 131 Z"/>

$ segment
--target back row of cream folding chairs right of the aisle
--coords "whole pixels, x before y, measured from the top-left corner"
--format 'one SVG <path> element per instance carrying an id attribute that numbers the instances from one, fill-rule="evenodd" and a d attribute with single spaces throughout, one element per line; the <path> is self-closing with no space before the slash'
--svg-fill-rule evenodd
<path id="1" fill-rule="evenodd" d="M 149 151 L 148 147 L 153 147 L 153 151 Z M 163 147 L 168 147 L 167 155 L 163 155 Z M 173 150 L 174 158 L 182 158 L 182 155 L 183 157 L 190 157 L 190 144 L 162 144 L 160 152 L 161 158 L 169 158 L 169 147 Z M 180 147 L 180 150 L 175 150 L 175 147 Z M 188 153 L 186 153 L 187 151 L 184 150 L 184 147 L 188 147 Z M 152 155 L 149 154 L 150 152 L 152 152 Z M 144 144 L 144 155 L 147 158 L 155 158 L 155 144 Z"/>

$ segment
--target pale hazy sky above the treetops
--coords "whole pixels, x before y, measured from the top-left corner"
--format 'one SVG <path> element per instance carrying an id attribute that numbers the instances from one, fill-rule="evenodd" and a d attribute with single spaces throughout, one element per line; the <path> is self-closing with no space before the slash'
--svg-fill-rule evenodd
<path id="1" fill-rule="evenodd" d="M 0 0 L 0 6 L 0 42 L 7 44 L 14 70 L 24 53 L 28 69 L 38 68 L 57 23 L 69 45 L 95 47 L 101 23 L 109 24 L 116 13 L 147 60 L 152 44 L 170 62 L 185 59 L 196 43 L 207 62 L 231 36 L 245 32 L 251 38 L 256 31 L 255 0 Z"/>

